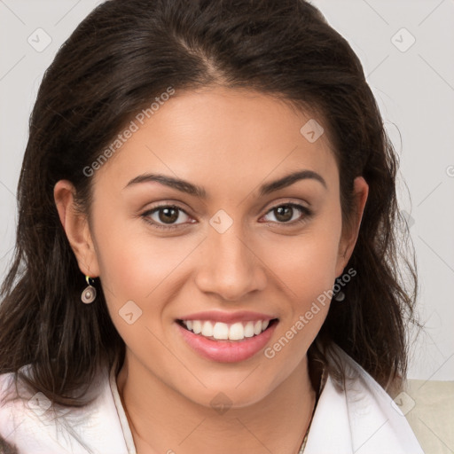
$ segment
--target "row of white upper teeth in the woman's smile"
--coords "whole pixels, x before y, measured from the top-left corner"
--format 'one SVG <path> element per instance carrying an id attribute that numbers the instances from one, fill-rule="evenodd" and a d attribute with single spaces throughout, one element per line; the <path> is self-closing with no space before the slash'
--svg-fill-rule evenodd
<path id="1" fill-rule="evenodd" d="M 270 324 L 269 320 L 256 322 L 237 322 L 232 325 L 223 322 L 210 322 L 208 320 L 183 320 L 184 325 L 195 334 L 205 337 L 214 337 L 223 340 L 242 340 L 262 333 Z"/>

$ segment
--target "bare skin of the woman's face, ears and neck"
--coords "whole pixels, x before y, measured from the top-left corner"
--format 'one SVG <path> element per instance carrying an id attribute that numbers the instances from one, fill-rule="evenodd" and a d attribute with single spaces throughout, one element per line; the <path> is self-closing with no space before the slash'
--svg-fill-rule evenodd
<path id="1" fill-rule="evenodd" d="M 368 186 L 356 178 L 355 222 L 342 229 L 327 134 L 309 143 L 300 133 L 310 118 L 251 90 L 177 92 L 96 171 L 90 221 L 74 209 L 72 184 L 56 184 L 80 270 L 100 278 L 127 346 L 117 384 L 139 454 L 294 454 L 301 445 L 315 402 L 306 353 L 329 304 L 273 358 L 261 351 L 239 363 L 199 356 L 175 320 L 211 309 L 270 314 L 279 323 L 269 347 L 333 288 L 355 246 Z M 296 169 L 317 172 L 326 187 L 307 178 L 259 195 L 261 184 Z M 200 185 L 207 199 L 155 182 L 125 189 L 151 172 Z M 289 202 L 312 215 L 294 209 L 282 221 L 271 208 Z M 176 212 L 178 228 L 146 223 L 147 209 L 168 203 L 187 214 Z M 223 233 L 209 223 L 220 209 L 233 221 Z M 148 218 L 168 225 L 160 213 Z M 142 310 L 132 325 L 119 315 L 126 301 Z M 223 414 L 210 404 L 220 392 L 231 401 Z"/>

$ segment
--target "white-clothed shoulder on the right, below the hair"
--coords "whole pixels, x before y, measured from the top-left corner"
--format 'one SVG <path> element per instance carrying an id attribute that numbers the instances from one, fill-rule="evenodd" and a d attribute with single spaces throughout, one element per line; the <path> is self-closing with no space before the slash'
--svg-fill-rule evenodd
<path id="1" fill-rule="evenodd" d="M 307 454 L 423 454 L 402 411 L 371 375 L 337 346 L 329 361 L 342 368 L 346 381 L 340 387 L 328 376 L 310 427 Z"/>

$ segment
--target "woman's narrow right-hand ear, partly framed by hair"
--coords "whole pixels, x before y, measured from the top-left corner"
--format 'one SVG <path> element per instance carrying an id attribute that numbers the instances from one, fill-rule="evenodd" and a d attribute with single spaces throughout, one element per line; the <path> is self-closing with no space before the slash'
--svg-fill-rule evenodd
<path id="1" fill-rule="evenodd" d="M 369 185 L 365 182 L 363 176 L 357 176 L 353 182 L 354 191 L 354 218 L 351 225 L 342 228 L 342 235 L 339 243 L 338 261 L 336 264 L 336 277 L 339 277 L 350 260 L 353 249 L 358 238 L 361 220 L 363 219 L 365 202 L 369 194 Z"/>

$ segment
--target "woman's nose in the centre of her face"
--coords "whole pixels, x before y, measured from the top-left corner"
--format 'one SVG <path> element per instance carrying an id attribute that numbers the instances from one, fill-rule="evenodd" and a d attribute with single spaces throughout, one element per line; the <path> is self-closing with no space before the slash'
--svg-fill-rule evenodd
<path id="1" fill-rule="evenodd" d="M 235 225 L 223 233 L 210 229 L 200 250 L 196 276 L 201 292 L 217 294 L 225 301 L 239 301 L 263 290 L 267 283 L 259 251 Z"/>

